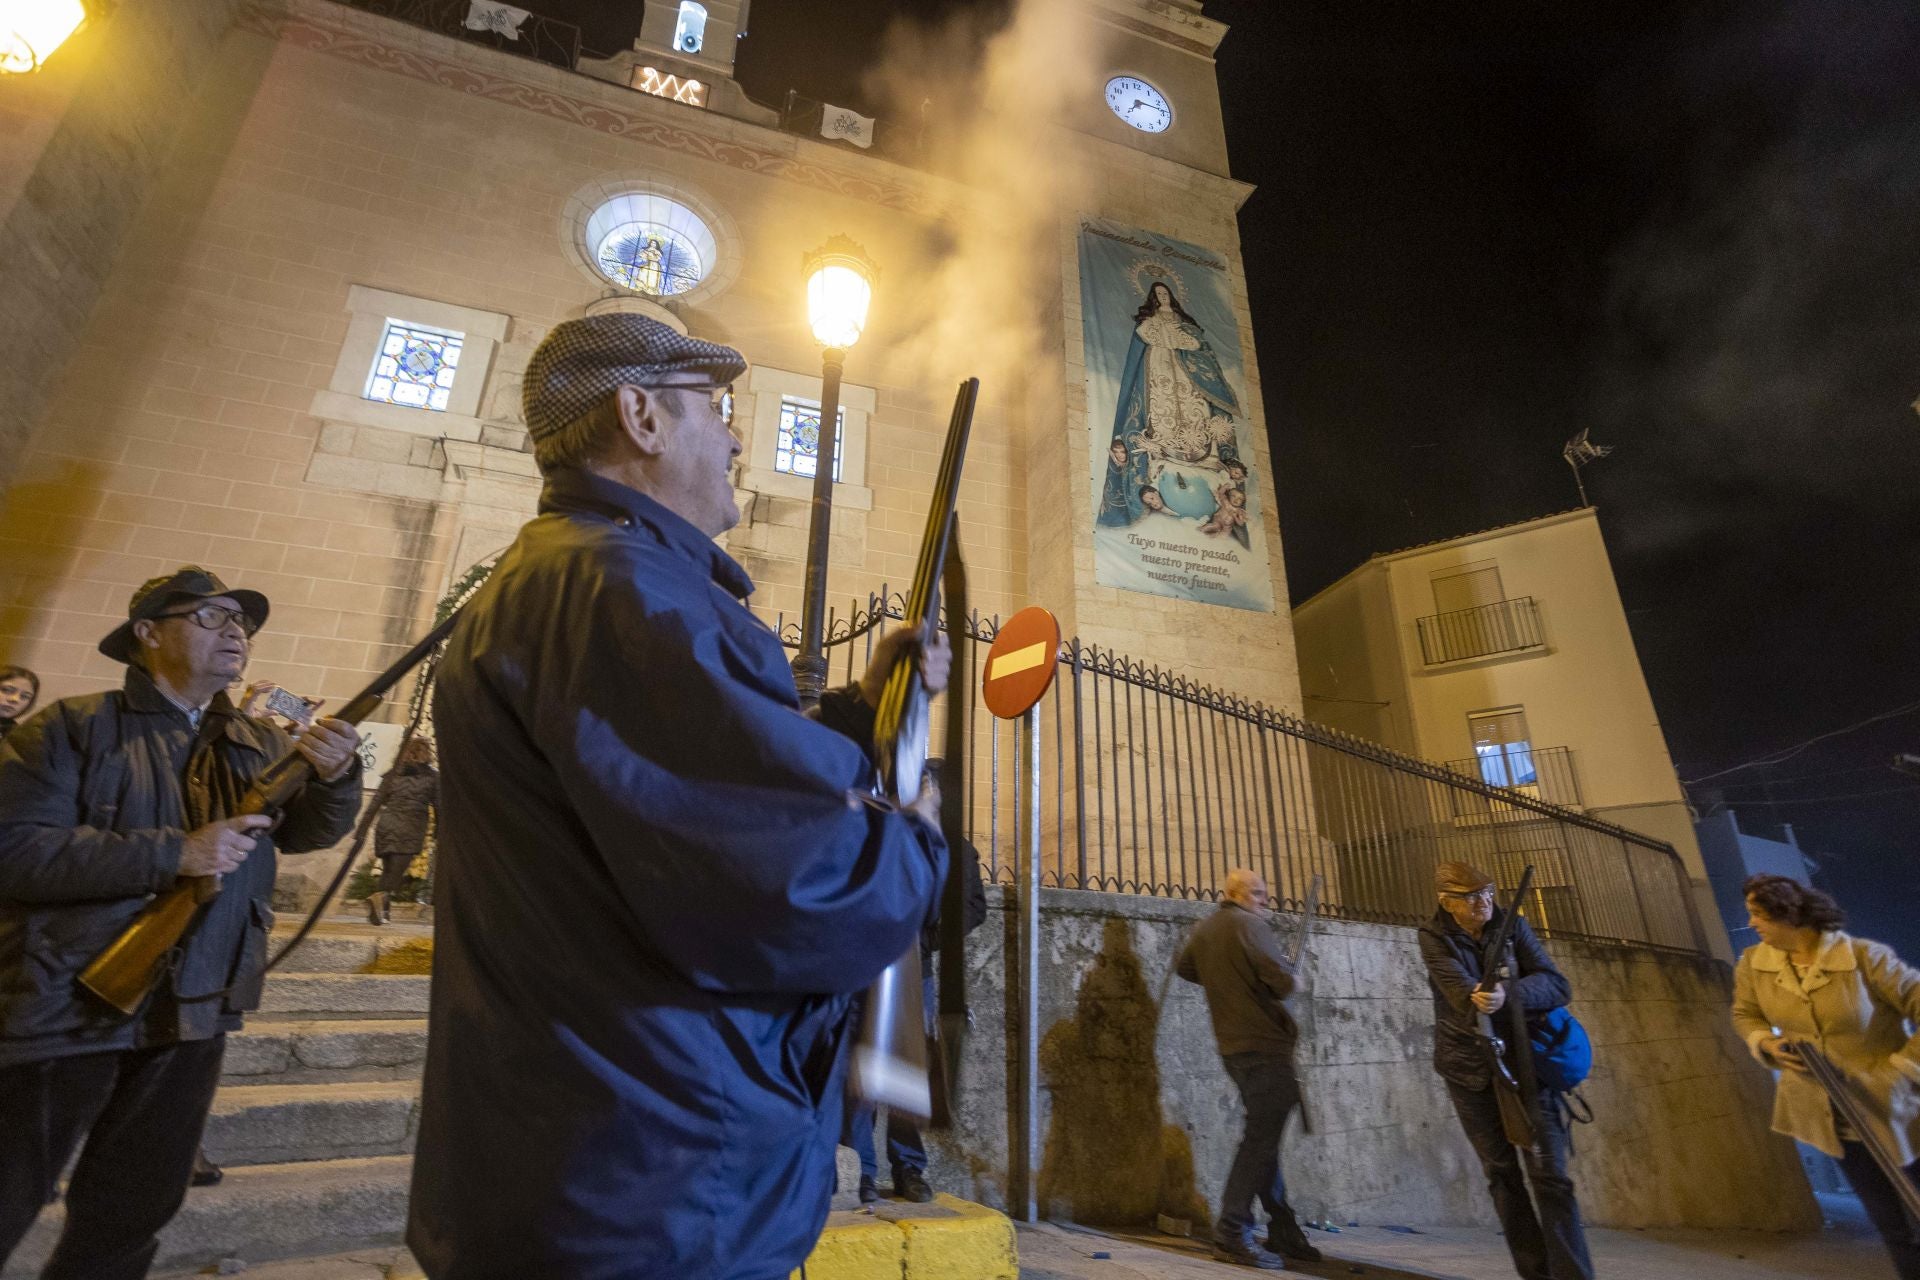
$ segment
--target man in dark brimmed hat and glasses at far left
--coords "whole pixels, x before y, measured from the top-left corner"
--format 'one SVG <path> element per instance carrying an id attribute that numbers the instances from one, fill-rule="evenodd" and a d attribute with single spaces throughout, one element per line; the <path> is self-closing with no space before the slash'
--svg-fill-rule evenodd
<path id="1" fill-rule="evenodd" d="M 294 743 L 242 716 L 267 597 L 180 568 L 132 593 L 100 652 L 121 689 L 61 699 L 0 747 L 0 1267 L 75 1150 L 48 1276 L 134 1278 L 186 1196 L 227 1032 L 259 1007 L 275 848 L 326 848 L 359 812 L 359 735 Z M 230 818 L 288 748 L 315 768 L 269 831 Z M 125 1015 L 79 973 L 180 877 L 219 875 L 148 1004 Z"/>

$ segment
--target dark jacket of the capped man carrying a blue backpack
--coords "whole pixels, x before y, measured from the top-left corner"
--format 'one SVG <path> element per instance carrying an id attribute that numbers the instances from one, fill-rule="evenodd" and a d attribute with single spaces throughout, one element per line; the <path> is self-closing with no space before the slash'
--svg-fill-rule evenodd
<path id="1" fill-rule="evenodd" d="M 1482 942 L 1492 940 L 1503 915 L 1505 908 L 1496 906 L 1494 917 L 1480 935 Z M 1488 1088 L 1494 1082 L 1492 1065 L 1486 1061 L 1486 1048 L 1480 1040 L 1478 1015 L 1473 1007 L 1473 988 L 1486 973 L 1480 960 L 1482 942 L 1475 942 L 1444 908 L 1436 908 L 1434 917 L 1421 925 L 1421 960 L 1427 961 L 1427 986 L 1434 994 L 1434 1071 L 1448 1082 L 1473 1090 Z M 1553 967 L 1553 960 L 1540 946 L 1540 936 L 1524 915 L 1513 921 L 1507 950 L 1513 956 L 1513 977 L 1505 981 L 1509 1007 L 1511 1002 L 1519 1000 L 1521 1011 L 1532 1017 L 1572 1000 L 1572 986 Z M 1503 1038 L 1511 1038 L 1509 1013 L 1501 1009 L 1494 1017 L 1496 1031 Z"/>

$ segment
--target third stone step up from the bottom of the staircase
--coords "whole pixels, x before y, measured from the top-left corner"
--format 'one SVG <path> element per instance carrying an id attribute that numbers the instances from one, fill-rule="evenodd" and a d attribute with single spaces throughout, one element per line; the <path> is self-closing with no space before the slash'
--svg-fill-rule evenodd
<path id="1" fill-rule="evenodd" d="M 278 981 L 278 979 L 275 979 Z M 227 1036 L 227 1084 L 417 1080 L 424 1017 L 248 1021 Z"/>

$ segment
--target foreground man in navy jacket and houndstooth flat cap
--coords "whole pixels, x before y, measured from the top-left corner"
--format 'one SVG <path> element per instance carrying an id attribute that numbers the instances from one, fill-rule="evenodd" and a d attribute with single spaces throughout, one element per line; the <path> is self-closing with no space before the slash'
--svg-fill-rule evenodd
<path id="1" fill-rule="evenodd" d="M 555 328 L 540 514 L 453 629 L 407 1242 L 434 1280 L 785 1280 L 826 1224 L 847 1006 L 945 844 L 868 804 L 899 643 L 804 718 L 714 545 L 745 359 L 637 315 Z M 929 641 L 931 689 L 947 652 Z"/>

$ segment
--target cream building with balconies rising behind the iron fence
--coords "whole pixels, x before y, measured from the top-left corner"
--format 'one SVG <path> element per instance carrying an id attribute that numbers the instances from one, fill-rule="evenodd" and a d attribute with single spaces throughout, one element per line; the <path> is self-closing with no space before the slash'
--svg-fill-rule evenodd
<path id="1" fill-rule="evenodd" d="M 1308 718 L 1672 844 L 1732 958 L 1594 509 L 1377 555 L 1294 635 Z"/>

